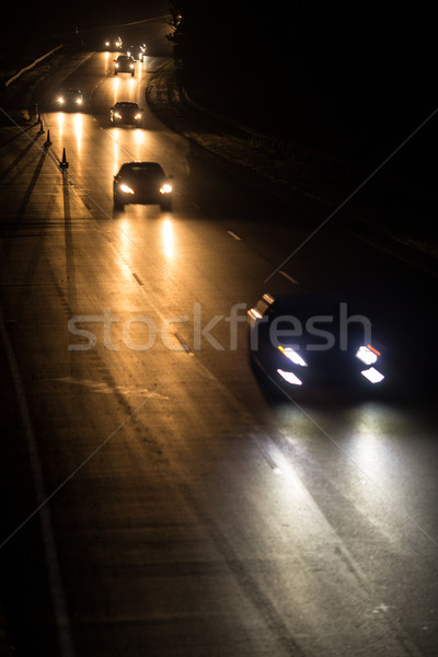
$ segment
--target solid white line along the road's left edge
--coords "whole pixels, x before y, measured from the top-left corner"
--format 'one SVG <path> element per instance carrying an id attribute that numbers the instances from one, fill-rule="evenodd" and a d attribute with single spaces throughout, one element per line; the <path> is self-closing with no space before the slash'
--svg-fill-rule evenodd
<path id="1" fill-rule="evenodd" d="M 35 434 L 32 427 L 31 416 L 26 402 L 23 383 L 21 381 L 19 367 L 12 349 L 11 342 L 8 335 L 8 328 L 4 323 L 3 310 L 0 308 L 0 333 L 3 346 L 8 356 L 9 366 L 11 368 L 14 389 L 19 402 L 19 408 L 23 427 L 26 436 L 28 457 L 31 461 L 32 474 L 35 484 L 36 504 L 39 509 L 39 521 L 44 541 L 45 556 L 47 563 L 47 572 L 49 578 L 51 601 L 58 630 L 58 637 L 62 657 L 73 657 L 73 642 L 71 638 L 70 620 L 67 611 L 67 602 L 62 587 L 62 579 L 59 568 L 58 555 L 55 546 L 55 535 L 51 525 L 50 510 L 45 504 L 47 494 L 44 485 L 43 470 L 41 465 L 38 448 L 35 439 Z M 4 545 L 4 542 L 3 542 Z"/>

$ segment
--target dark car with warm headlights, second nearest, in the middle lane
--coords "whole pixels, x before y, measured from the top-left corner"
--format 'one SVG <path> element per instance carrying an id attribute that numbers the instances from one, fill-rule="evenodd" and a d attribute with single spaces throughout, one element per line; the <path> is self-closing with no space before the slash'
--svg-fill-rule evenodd
<path id="1" fill-rule="evenodd" d="M 170 211 L 171 180 L 158 162 L 125 162 L 114 176 L 114 207 L 123 210 L 128 204 L 158 204 Z"/>

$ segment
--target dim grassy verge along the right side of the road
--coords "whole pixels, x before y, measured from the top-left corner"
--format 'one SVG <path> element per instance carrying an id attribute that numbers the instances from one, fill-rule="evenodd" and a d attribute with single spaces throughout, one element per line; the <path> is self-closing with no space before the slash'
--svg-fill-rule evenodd
<path id="1" fill-rule="evenodd" d="M 194 101 L 178 84 L 172 61 L 150 81 L 147 102 L 169 127 L 251 174 L 274 194 L 311 209 L 321 221 L 330 217 L 348 230 L 391 244 L 406 257 L 424 261 L 429 269 L 436 267 L 437 193 L 427 181 L 422 186 L 394 173 L 391 159 L 399 153 L 370 169 L 247 128 Z M 410 146 L 405 145 L 406 151 Z"/>

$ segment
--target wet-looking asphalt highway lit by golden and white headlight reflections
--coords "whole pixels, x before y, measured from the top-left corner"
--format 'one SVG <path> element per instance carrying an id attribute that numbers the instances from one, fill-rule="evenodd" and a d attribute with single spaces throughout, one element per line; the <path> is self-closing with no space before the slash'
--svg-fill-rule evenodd
<path id="1" fill-rule="evenodd" d="M 126 32 L 126 30 L 125 30 Z M 0 127 L 1 611 L 14 655 L 438 655 L 436 272 L 237 176 L 151 112 L 172 56 L 90 49 Z M 80 112 L 55 105 L 60 83 Z M 112 126 L 135 102 L 142 126 Z M 47 145 L 49 131 L 50 145 Z M 68 166 L 64 169 L 62 153 Z M 124 162 L 173 205 L 114 208 Z M 390 394 L 281 394 L 249 360 L 265 292 L 339 292 Z M 374 392 L 374 391 L 373 391 Z"/>

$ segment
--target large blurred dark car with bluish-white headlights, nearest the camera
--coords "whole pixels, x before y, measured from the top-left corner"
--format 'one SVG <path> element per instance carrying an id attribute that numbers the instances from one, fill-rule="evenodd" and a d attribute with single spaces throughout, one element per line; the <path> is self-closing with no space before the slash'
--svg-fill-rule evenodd
<path id="1" fill-rule="evenodd" d="M 250 356 L 286 393 L 366 391 L 388 384 L 387 349 L 345 299 L 265 293 L 247 311 Z"/>

